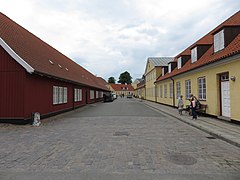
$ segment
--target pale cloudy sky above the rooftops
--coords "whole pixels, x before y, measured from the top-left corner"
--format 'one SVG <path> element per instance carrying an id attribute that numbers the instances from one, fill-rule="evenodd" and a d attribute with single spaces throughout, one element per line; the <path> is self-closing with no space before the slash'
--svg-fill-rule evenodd
<path id="1" fill-rule="evenodd" d="M 105 80 L 141 78 L 239 11 L 239 0 L 0 0 L 0 11 Z"/>

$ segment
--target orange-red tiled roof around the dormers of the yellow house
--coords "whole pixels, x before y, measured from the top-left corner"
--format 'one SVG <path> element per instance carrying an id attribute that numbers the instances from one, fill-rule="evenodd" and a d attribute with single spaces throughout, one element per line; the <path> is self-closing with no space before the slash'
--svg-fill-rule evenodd
<path id="1" fill-rule="evenodd" d="M 210 63 L 225 59 L 227 57 L 231 57 L 236 54 L 240 54 L 240 34 L 238 34 L 231 42 L 230 44 L 225 47 L 223 50 L 214 53 L 213 50 L 213 34 L 221 30 L 223 27 L 238 27 L 240 28 L 240 11 L 235 13 L 233 16 L 231 16 L 229 19 L 227 19 L 225 22 L 217 26 L 215 29 L 213 29 L 211 32 L 209 32 L 207 35 L 203 36 L 201 39 L 196 41 L 194 44 L 189 46 L 187 49 L 185 49 L 183 52 L 178 54 L 174 61 L 177 62 L 177 58 L 183 55 L 191 55 L 191 49 L 194 48 L 197 45 L 209 45 L 210 48 L 203 54 L 202 57 L 200 57 L 196 62 L 191 63 L 191 59 L 188 60 L 188 62 L 180 69 L 175 68 L 171 73 L 166 73 L 164 76 L 160 76 L 156 82 L 165 80 L 167 78 L 185 73 L 187 71 L 200 68 L 202 66 L 208 65 Z"/>

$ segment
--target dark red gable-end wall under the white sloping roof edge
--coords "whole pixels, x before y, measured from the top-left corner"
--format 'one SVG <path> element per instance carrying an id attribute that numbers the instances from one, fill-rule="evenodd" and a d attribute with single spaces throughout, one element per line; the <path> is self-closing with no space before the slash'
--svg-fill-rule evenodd
<path id="1" fill-rule="evenodd" d="M 24 69 L 0 47 L 0 118 L 23 118 L 24 82 Z"/>

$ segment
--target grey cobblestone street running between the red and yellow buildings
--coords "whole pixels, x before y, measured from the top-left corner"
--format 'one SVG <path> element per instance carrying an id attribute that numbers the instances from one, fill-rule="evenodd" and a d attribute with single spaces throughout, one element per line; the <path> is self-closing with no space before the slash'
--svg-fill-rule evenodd
<path id="1" fill-rule="evenodd" d="M 240 177 L 238 147 L 134 99 L 85 106 L 45 119 L 40 127 L 0 124 L 0 142 L 5 179 L 24 179 L 24 173 L 70 179 L 76 173 L 82 179 Z"/>

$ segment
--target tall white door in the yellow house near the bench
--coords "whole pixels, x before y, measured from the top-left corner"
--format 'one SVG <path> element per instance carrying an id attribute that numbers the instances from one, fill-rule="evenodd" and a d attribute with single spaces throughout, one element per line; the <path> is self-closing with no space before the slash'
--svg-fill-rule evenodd
<path id="1" fill-rule="evenodd" d="M 222 116 L 231 117 L 229 81 L 221 82 Z"/>

